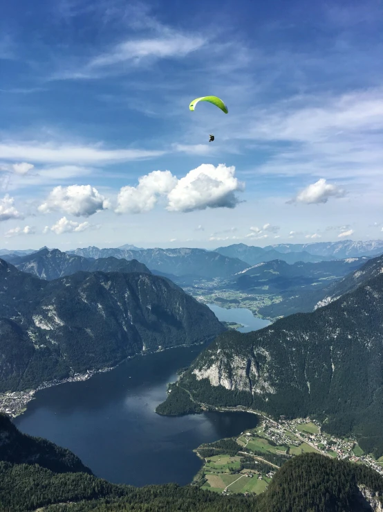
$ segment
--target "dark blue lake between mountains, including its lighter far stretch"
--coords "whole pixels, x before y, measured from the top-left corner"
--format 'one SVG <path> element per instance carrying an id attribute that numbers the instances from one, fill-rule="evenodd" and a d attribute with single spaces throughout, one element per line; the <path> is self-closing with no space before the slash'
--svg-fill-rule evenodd
<path id="1" fill-rule="evenodd" d="M 212 310 L 220 319 L 225 312 L 226 321 L 250 324 L 243 310 Z M 235 311 L 238 317 L 232 315 Z M 254 327 L 257 324 L 253 329 L 261 327 Z M 175 418 L 154 412 L 165 400 L 167 383 L 177 379 L 176 371 L 188 366 L 204 347 L 136 357 L 84 382 L 38 391 L 15 423 L 22 432 L 69 448 L 95 475 L 111 482 L 187 484 L 201 466 L 194 448 L 237 435 L 258 422 L 255 414 L 241 412 Z"/>

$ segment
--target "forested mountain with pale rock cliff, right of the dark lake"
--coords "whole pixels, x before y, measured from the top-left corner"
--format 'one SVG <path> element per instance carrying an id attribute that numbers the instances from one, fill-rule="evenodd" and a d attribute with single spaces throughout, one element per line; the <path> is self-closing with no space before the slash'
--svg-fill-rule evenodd
<path id="1" fill-rule="evenodd" d="M 316 416 L 324 430 L 353 432 L 364 451 L 380 457 L 382 324 L 380 270 L 315 312 L 251 333 L 223 333 L 183 373 L 180 386 L 197 403 L 245 405 L 274 417 Z"/>

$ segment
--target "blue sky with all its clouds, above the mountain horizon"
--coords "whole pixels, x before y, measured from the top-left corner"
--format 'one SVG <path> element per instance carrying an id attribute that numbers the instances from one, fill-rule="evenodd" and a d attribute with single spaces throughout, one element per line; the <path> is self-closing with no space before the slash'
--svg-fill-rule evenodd
<path id="1" fill-rule="evenodd" d="M 382 237 L 381 1 L 1 10 L 2 247 Z"/>

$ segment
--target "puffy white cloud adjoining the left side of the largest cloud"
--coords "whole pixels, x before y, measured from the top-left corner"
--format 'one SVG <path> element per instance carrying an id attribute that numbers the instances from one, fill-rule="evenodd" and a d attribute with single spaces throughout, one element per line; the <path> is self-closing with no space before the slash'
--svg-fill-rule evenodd
<path id="1" fill-rule="evenodd" d="M 156 205 L 158 197 L 167 195 L 176 185 L 177 178 L 169 170 L 153 170 L 138 179 L 138 186 L 124 186 L 118 194 L 116 213 L 143 213 Z"/>

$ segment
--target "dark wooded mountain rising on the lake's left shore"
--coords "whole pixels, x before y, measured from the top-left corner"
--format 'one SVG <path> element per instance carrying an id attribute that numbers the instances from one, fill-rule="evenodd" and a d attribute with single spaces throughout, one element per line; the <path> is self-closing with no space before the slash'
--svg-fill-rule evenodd
<path id="1" fill-rule="evenodd" d="M 159 276 L 76 272 L 45 281 L 1 259 L 0 310 L 0 391 L 35 388 L 224 330 L 207 306 Z"/>

